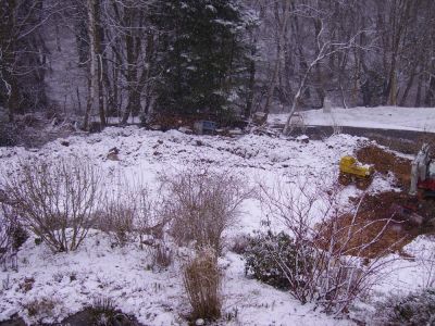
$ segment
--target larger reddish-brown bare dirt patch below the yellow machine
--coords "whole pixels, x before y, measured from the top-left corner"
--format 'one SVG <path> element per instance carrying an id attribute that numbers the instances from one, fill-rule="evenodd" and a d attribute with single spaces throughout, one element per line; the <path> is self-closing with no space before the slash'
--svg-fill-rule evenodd
<path id="1" fill-rule="evenodd" d="M 360 199 L 352 198 L 358 204 Z M 345 214 L 335 221 L 320 226 L 323 228 L 322 238 L 327 248 L 333 229 L 338 231 L 336 247 L 346 248 L 346 254 L 363 258 L 376 258 L 398 252 L 405 254 L 401 249 L 411 242 L 417 236 L 434 230 L 427 225 L 431 218 L 433 203 L 420 204 L 414 198 L 402 192 L 382 192 L 369 195 L 362 199 L 357 216 Z M 400 212 L 403 209 L 406 212 Z M 420 225 L 413 216 L 423 217 Z"/>

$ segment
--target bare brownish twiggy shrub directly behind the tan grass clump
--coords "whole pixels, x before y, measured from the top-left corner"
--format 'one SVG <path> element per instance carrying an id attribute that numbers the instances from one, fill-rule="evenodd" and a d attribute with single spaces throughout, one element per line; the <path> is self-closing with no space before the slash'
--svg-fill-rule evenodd
<path id="1" fill-rule="evenodd" d="M 172 217 L 175 241 L 221 252 L 224 230 L 237 222 L 240 204 L 250 196 L 243 180 L 227 172 L 188 170 L 163 177 L 163 185 L 169 190 L 164 215 Z"/>

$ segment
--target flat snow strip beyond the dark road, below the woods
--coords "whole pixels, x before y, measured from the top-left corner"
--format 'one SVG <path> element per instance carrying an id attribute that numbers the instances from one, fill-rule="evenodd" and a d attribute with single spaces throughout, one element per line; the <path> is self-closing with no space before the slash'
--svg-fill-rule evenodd
<path id="1" fill-rule="evenodd" d="M 435 108 L 351 108 L 303 111 L 303 122 L 313 126 L 347 126 L 435 133 Z M 270 123 L 283 124 L 288 114 L 271 114 Z"/>

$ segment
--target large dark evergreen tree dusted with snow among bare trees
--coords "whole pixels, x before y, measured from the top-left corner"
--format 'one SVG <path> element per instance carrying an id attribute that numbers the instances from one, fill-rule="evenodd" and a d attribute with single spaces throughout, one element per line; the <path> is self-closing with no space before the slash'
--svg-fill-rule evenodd
<path id="1" fill-rule="evenodd" d="M 240 4 L 234 0 L 159 1 L 154 24 L 162 30 L 156 109 L 229 120 L 246 49 Z"/>

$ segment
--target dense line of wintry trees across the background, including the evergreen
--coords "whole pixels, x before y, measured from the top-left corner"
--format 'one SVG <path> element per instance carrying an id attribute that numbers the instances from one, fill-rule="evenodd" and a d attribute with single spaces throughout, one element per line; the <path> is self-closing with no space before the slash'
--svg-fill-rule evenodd
<path id="1" fill-rule="evenodd" d="M 0 106 L 59 112 L 53 38 L 73 38 L 82 127 L 97 116 L 435 105 L 432 0 L 1 0 Z M 65 59 L 62 59 L 65 60 Z M 83 103 L 83 105 L 82 105 Z M 63 112 L 72 113 L 65 105 Z"/>

